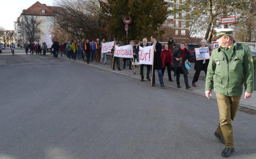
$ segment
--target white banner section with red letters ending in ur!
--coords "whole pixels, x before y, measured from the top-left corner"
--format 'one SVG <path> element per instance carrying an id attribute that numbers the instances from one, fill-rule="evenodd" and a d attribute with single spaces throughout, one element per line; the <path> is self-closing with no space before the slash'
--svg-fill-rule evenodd
<path id="1" fill-rule="evenodd" d="M 154 53 L 154 46 L 146 46 L 142 48 L 140 46 L 139 57 L 140 61 L 139 64 L 146 64 L 146 65 L 153 65 L 153 53 Z"/>

